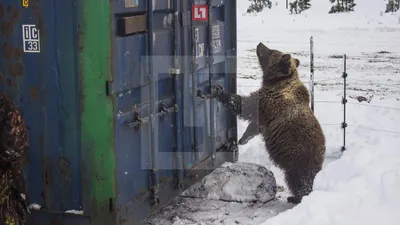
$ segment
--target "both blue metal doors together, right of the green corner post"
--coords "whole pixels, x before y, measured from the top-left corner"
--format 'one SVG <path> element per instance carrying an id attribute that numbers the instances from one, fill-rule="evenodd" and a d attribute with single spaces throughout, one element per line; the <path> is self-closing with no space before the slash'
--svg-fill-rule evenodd
<path id="1" fill-rule="evenodd" d="M 203 4 L 211 6 L 209 20 L 192 24 L 192 7 Z M 118 221 L 143 218 L 232 159 L 216 150 L 236 140 L 236 118 L 202 96 L 215 83 L 236 91 L 229 59 L 235 7 L 222 0 L 113 2 Z"/>

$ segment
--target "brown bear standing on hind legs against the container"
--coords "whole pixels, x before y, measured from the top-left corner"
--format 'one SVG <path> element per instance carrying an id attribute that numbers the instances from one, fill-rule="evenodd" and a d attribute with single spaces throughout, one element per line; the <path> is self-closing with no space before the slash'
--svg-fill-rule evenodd
<path id="1" fill-rule="evenodd" d="M 263 72 L 259 90 L 240 96 L 217 88 L 216 97 L 250 122 L 239 144 L 261 133 L 270 159 L 285 173 L 292 192 L 287 201 L 298 204 L 312 191 L 315 175 L 322 169 L 325 137 L 299 79 L 300 61 L 262 43 L 257 45 L 257 57 Z"/>

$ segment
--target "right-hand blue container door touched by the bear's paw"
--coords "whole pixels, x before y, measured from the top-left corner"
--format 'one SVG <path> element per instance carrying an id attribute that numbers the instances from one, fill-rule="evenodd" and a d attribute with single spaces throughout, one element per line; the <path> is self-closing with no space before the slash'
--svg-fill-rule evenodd
<path id="1" fill-rule="evenodd" d="M 236 154 L 229 153 L 230 149 L 235 149 L 231 146 L 236 141 L 236 118 L 210 98 L 216 84 L 228 92 L 236 92 L 236 63 L 233 57 L 236 55 L 236 1 L 183 2 L 184 12 L 190 12 L 182 19 L 186 56 L 184 148 L 190 150 L 186 152 L 184 166 L 196 171 L 196 167 L 209 158 L 218 164 Z M 213 169 L 212 166 L 201 167 Z"/>

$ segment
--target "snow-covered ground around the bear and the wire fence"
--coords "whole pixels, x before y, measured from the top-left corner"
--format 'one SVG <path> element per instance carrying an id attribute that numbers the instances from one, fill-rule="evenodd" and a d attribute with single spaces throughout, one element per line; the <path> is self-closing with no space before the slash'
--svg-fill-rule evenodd
<path id="1" fill-rule="evenodd" d="M 272 0 L 273 5 L 275 3 Z M 148 220 L 149 224 L 247 225 L 397 225 L 400 221 L 400 12 L 385 14 L 386 1 L 358 0 L 355 12 L 329 15 L 328 0 L 313 0 L 301 15 L 289 15 L 285 1 L 258 15 L 244 12 L 238 0 L 238 93 L 260 86 L 255 47 L 259 42 L 300 60 L 301 79 L 308 83 L 310 44 L 314 39 L 315 114 L 327 139 L 324 169 L 314 191 L 297 206 L 227 202 L 178 197 Z M 346 151 L 343 146 L 343 54 L 347 55 Z M 368 102 L 358 102 L 363 96 Z M 238 121 L 239 137 L 247 123 Z M 239 161 L 282 172 L 268 159 L 260 137 L 239 146 Z"/>

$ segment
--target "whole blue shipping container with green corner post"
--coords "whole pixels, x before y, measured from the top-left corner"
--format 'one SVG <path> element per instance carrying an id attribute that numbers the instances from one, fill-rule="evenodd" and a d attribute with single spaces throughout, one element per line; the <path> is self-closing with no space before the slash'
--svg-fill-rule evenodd
<path id="1" fill-rule="evenodd" d="M 27 224 L 138 224 L 237 160 L 211 95 L 236 93 L 236 0 L 0 0 L 0 25 L 41 206 Z"/>

